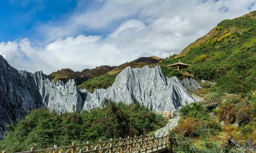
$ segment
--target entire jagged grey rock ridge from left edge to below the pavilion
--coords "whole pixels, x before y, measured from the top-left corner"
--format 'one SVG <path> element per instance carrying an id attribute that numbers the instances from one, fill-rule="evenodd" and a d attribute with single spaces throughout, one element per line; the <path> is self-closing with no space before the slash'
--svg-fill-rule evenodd
<path id="1" fill-rule="evenodd" d="M 97 89 L 92 94 L 87 89 L 78 90 L 75 80 L 54 83 L 42 71 L 18 71 L 0 55 L 0 138 L 5 123 L 23 119 L 30 110 L 49 108 L 60 113 L 89 110 L 102 106 L 105 98 L 138 102 L 156 111 L 176 110 L 186 102 L 195 101 L 177 77 L 166 78 L 159 66 L 127 67 L 111 87 Z"/>

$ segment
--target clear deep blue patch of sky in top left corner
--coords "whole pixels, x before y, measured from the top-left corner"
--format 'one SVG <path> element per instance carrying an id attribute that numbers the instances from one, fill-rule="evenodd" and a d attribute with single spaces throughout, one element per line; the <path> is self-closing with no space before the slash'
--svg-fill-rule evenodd
<path id="1" fill-rule="evenodd" d="M 75 0 L 6 0 L 1 1 L 0 41 L 34 37 L 36 26 L 63 18 L 76 8 Z"/>

